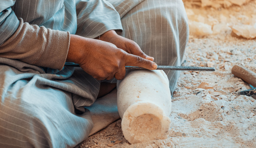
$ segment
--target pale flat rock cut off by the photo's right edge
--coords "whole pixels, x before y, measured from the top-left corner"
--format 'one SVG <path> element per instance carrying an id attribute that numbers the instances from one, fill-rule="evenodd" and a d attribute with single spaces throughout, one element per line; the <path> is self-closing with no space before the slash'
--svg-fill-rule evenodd
<path id="1" fill-rule="evenodd" d="M 254 39 L 256 37 L 256 24 L 254 25 L 233 25 L 229 26 L 232 31 L 246 39 Z"/>

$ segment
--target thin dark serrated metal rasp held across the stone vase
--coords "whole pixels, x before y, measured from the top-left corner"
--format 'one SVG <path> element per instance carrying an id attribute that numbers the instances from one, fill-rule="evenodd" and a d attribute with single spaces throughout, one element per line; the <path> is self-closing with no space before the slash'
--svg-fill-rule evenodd
<path id="1" fill-rule="evenodd" d="M 78 64 L 65 64 L 64 66 L 79 67 Z M 146 68 L 134 67 L 134 66 L 125 66 L 125 69 L 138 69 L 138 70 L 143 70 L 143 69 L 146 69 Z M 157 66 L 156 70 L 215 71 L 214 67 L 160 66 L 160 65 Z"/>

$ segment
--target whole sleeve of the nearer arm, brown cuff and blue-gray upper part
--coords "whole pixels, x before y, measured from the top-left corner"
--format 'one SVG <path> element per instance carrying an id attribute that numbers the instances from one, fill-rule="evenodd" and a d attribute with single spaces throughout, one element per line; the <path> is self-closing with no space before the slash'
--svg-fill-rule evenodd
<path id="1" fill-rule="evenodd" d="M 23 23 L 11 9 L 15 1 L 0 2 L 0 57 L 61 70 L 70 33 Z"/>

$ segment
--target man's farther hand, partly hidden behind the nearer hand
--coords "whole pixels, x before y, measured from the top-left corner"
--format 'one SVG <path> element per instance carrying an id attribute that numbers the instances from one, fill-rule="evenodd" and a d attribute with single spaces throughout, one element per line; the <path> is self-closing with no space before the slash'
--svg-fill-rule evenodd
<path id="1" fill-rule="evenodd" d="M 123 49 L 127 53 L 140 56 L 147 60 L 151 60 L 151 61 L 154 60 L 153 57 L 150 57 L 146 55 L 144 52 L 142 52 L 142 50 L 140 49 L 140 46 L 136 42 L 118 35 L 114 30 L 105 32 L 104 34 L 102 34 L 100 37 L 97 37 L 96 39 L 100 39 L 102 41 L 112 43 L 116 45 L 117 48 Z"/>

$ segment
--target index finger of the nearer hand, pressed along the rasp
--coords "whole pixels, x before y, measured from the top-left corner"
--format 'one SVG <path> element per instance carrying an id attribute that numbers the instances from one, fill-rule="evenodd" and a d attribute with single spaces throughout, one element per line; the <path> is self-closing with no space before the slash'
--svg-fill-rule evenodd
<path id="1" fill-rule="evenodd" d="M 149 70 L 155 70 L 157 68 L 157 65 L 155 62 L 153 62 L 151 60 L 143 59 L 140 56 L 125 53 L 124 57 L 125 57 L 125 65 L 126 66 L 143 67 L 143 68 L 146 68 Z"/>

